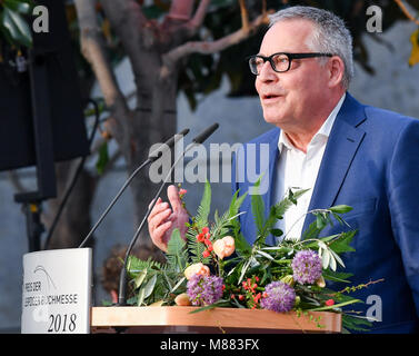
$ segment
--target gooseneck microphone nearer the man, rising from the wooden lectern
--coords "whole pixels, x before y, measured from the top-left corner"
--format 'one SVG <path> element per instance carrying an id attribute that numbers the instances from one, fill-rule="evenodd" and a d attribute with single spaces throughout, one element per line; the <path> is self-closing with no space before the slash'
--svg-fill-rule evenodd
<path id="1" fill-rule="evenodd" d="M 146 221 L 147 221 L 147 218 L 149 217 L 151 210 L 153 209 L 158 197 L 160 196 L 161 191 L 163 190 L 164 185 L 167 184 L 167 181 L 171 177 L 171 172 L 173 171 L 176 165 L 180 161 L 180 159 L 182 159 L 183 156 L 190 149 L 192 149 L 197 145 L 202 144 L 208 137 L 210 137 L 218 129 L 218 127 L 219 127 L 218 123 L 213 123 L 209 128 L 207 128 L 203 132 L 199 134 L 196 138 L 193 138 L 192 142 L 189 144 L 189 146 L 183 150 L 183 152 L 178 157 L 178 159 L 176 159 L 174 164 L 170 167 L 170 170 L 169 170 L 168 175 L 166 176 L 163 182 L 160 185 L 160 188 L 157 191 L 157 194 L 156 194 L 156 196 L 152 200 L 152 204 L 149 206 L 149 208 L 146 212 L 146 216 L 143 217 L 139 228 L 137 229 L 134 236 L 131 239 L 130 245 L 127 248 L 124 260 L 123 260 L 123 266 L 122 266 L 122 269 L 121 269 L 121 273 L 120 273 L 120 276 L 119 276 L 119 295 L 118 295 L 118 305 L 119 306 L 127 305 L 127 264 L 128 264 L 128 257 L 129 257 L 129 255 L 132 250 L 132 247 L 136 244 L 138 237 L 140 236 L 140 233 L 143 228 Z"/>

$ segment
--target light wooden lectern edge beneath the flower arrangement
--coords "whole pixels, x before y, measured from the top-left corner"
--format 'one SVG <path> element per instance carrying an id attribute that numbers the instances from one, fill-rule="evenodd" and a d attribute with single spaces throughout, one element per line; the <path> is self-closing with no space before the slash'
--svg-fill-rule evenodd
<path id="1" fill-rule="evenodd" d="M 191 314 L 197 307 L 93 307 L 92 333 L 227 333 L 299 334 L 341 333 L 341 315 L 327 312 L 276 313 L 261 309 L 213 308 Z M 318 323 L 315 319 L 320 319 Z M 319 325 L 321 327 L 319 327 Z"/>

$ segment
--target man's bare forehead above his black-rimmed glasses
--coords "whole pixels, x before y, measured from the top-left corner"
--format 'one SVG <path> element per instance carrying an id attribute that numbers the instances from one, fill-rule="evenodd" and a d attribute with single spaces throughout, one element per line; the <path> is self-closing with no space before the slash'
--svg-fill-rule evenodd
<path id="1" fill-rule="evenodd" d="M 270 56 L 276 52 L 307 52 L 308 40 L 315 24 L 305 19 L 280 20 L 265 34 L 259 53 Z"/>

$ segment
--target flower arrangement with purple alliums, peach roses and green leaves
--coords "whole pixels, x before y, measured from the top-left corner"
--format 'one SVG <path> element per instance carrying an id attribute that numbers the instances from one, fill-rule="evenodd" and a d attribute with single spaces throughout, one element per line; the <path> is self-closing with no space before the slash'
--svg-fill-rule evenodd
<path id="1" fill-rule="evenodd" d="M 301 239 L 282 239 L 277 246 L 266 244 L 269 235 L 282 236 L 283 233 L 275 228 L 276 221 L 282 219 L 286 210 L 306 191 L 290 190 L 282 201 L 271 207 L 267 218 L 259 195 L 250 197 L 251 211 L 239 212 L 247 195 L 239 196 L 237 191 L 229 209 L 222 216 L 215 211 L 215 219 L 210 221 L 211 187 L 207 182 L 197 215 L 188 224 L 186 240 L 178 229 L 172 233 L 167 264 L 130 256 L 127 269 L 136 294 L 129 304 L 192 305 L 199 307 L 196 312 L 215 307 L 295 310 L 297 315 L 328 310 L 342 314 L 345 332 L 366 330 L 370 325 L 366 318 L 346 314 L 341 308 L 361 301 L 349 296 L 349 291 L 368 285 L 340 291 L 326 287 L 326 280 L 349 283 L 351 275 L 337 268 L 345 268 L 339 255 L 353 251 L 350 243 L 356 231 L 319 237 L 328 224 L 333 224 L 332 218 L 346 224 L 341 215 L 351 207 L 341 205 L 309 211 L 316 215 L 316 221 Z M 186 191 L 182 192 L 184 196 Z M 238 217 L 241 214 L 255 216 L 258 236 L 252 246 L 240 231 Z M 319 323 L 318 326 L 321 327 Z"/>

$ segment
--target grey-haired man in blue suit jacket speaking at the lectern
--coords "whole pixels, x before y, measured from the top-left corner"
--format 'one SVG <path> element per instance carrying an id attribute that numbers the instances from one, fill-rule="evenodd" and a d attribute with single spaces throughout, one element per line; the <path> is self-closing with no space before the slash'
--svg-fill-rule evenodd
<path id="1" fill-rule="evenodd" d="M 357 310 L 379 319 L 372 332 L 415 333 L 419 330 L 419 121 L 363 106 L 347 92 L 353 75 L 351 50 L 349 31 L 328 11 L 292 7 L 272 16 L 259 53 L 249 60 L 265 120 L 277 127 L 252 141 L 270 147 L 265 176 L 270 189 L 263 199 L 270 207 L 289 187 L 310 188 L 279 226 L 285 231 L 292 227 L 293 238 L 313 221 L 307 215 L 296 224 L 308 210 L 351 206 L 343 216 L 359 230 L 352 241 L 356 253 L 343 259 L 355 274 L 351 281 L 385 279 L 352 294 L 366 301 Z M 246 162 L 246 154 L 245 146 L 237 161 Z M 251 186 L 246 179 L 233 180 L 233 190 L 245 192 Z M 171 187 L 174 214 L 159 201 L 149 218 L 150 236 L 162 249 L 171 229 L 186 219 L 176 196 Z M 250 198 L 241 209 L 250 211 Z M 251 215 L 240 216 L 240 222 L 252 243 Z M 328 227 L 325 235 L 341 228 Z"/>

